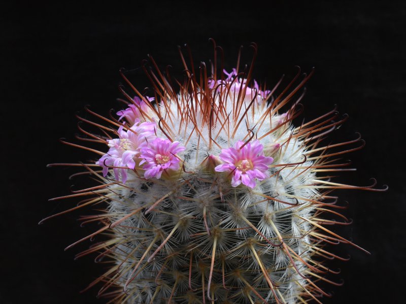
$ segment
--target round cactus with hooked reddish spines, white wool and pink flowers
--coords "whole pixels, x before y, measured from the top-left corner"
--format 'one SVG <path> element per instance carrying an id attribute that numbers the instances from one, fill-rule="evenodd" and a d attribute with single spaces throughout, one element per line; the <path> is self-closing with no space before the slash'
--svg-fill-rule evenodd
<path id="1" fill-rule="evenodd" d="M 136 95 L 120 87 L 126 108 L 110 118 L 86 108 L 103 123 L 79 118 L 99 130 L 81 128 L 84 140 L 108 147 L 64 143 L 99 155 L 93 163 L 71 164 L 98 184 L 61 198 L 87 197 L 71 210 L 104 205 L 105 211 L 82 217 L 102 227 L 67 248 L 107 235 L 78 256 L 98 252 L 96 260 L 111 262 L 89 285 L 101 284 L 98 295 L 111 302 L 320 303 L 329 294 L 318 282 L 336 284 L 320 262 L 337 257 L 325 245 L 365 251 L 326 227 L 348 222 L 331 191 L 384 189 L 375 181 L 363 187 L 330 181 L 331 172 L 347 170 L 341 156 L 363 146 L 360 137 L 323 144 L 347 119 L 335 108 L 292 124 L 302 112 L 298 92 L 313 70 L 301 75 L 298 69 L 286 88 L 279 90 L 280 81 L 267 90 L 253 80 L 254 60 L 227 72 L 217 66 L 221 49 L 214 50 L 210 77 L 204 63 L 188 66 L 180 52 L 185 79 L 175 81 L 150 56 L 155 71 L 143 68 L 153 97 L 121 70 Z"/>

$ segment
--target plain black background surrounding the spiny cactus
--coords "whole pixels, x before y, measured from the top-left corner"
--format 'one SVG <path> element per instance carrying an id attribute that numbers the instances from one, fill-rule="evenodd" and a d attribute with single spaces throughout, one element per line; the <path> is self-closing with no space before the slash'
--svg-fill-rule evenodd
<path id="1" fill-rule="evenodd" d="M 266 5 L 264 4 L 266 3 Z M 136 4 L 134 6 L 134 4 Z M 347 156 L 358 171 L 340 181 L 357 185 L 378 179 L 386 193 L 341 191 L 350 203 L 349 227 L 335 229 L 371 252 L 342 244 L 331 248 L 348 262 L 331 261 L 342 273 L 343 287 L 324 303 L 400 303 L 404 300 L 405 194 L 404 113 L 406 98 L 406 5 L 403 1 L 267 1 L 191 4 L 151 1 L 132 6 L 94 2 L 71 4 L 14 2 L 2 4 L 1 86 L 3 168 L 1 193 L 0 302 L 102 303 L 97 289 L 79 291 L 105 269 L 94 256 L 74 261 L 89 242 L 63 248 L 94 231 L 80 227 L 81 212 L 49 220 L 43 217 L 75 205 L 75 200 L 47 202 L 86 185 L 68 180 L 73 170 L 46 168 L 47 163 L 92 157 L 62 145 L 75 141 L 75 113 L 87 116 L 86 104 L 103 115 L 120 109 L 120 67 L 137 69 L 147 54 L 159 66 L 181 68 L 177 45 L 188 43 L 196 63 L 212 58 L 213 37 L 234 66 L 240 45 L 243 62 L 249 44 L 258 44 L 254 78 L 275 84 L 294 65 L 316 72 L 307 84 L 304 117 L 309 121 L 339 106 L 349 120 L 331 135 L 333 141 L 355 138 L 364 149 Z M 131 80 L 148 86 L 137 69 Z M 90 211 L 85 211 L 85 213 Z M 82 212 L 83 213 L 83 212 Z"/>

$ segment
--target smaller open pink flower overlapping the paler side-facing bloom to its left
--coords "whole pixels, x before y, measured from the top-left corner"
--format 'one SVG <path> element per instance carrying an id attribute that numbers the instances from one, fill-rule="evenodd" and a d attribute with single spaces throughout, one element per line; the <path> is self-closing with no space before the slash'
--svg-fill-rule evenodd
<path id="1" fill-rule="evenodd" d="M 185 150 L 184 146 L 180 146 L 178 141 L 171 142 L 165 138 L 155 138 L 149 142 L 147 146 L 141 148 L 140 158 L 143 160 L 145 178 L 160 178 L 162 171 L 166 169 L 179 169 L 179 159 L 175 154 Z"/>

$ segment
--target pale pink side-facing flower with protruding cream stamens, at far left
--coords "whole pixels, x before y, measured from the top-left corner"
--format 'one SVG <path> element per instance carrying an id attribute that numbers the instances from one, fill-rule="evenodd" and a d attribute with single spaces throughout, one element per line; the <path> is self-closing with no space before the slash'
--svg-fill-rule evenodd
<path id="1" fill-rule="evenodd" d="M 148 139 L 152 140 L 155 137 L 155 126 L 155 122 L 137 123 L 127 131 L 121 126 L 118 129 L 119 138 L 108 140 L 110 149 L 97 162 L 103 168 L 103 176 L 107 175 L 109 167 L 113 167 L 116 179 L 125 182 L 127 168 L 135 168 L 134 158 L 140 154 L 140 149 L 147 145 Z"/>

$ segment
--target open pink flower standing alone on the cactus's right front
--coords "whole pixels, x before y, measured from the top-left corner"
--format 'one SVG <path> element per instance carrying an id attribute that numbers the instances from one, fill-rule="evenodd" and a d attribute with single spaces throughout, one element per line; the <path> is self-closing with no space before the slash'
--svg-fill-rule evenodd
<path id="1" fill-rule="evenodd" d="M 239 140 L 234 147 L 222 149 L 219 158 L 224 164 L 214 168 L 217 172 L 232 172 L 231 185 L 236 187 L 241 183 L 254 188 L 255 178 L 264 180 L 269 177 L 268 165 L 272 164 L 272 157 L 263 156 L 263 146 L 255 139 L 241 147 L 244 141 Z"/>

